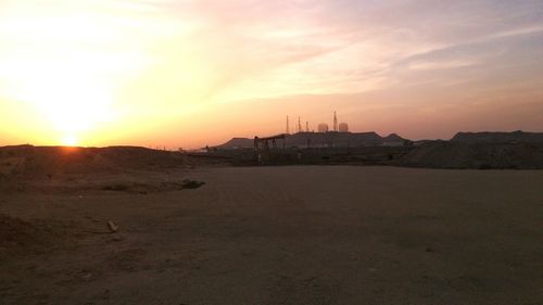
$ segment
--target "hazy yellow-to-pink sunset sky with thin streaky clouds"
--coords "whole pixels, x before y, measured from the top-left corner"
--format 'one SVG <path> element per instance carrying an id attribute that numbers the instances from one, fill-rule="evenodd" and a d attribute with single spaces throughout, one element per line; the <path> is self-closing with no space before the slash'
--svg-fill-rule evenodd
<path id="1" fill-rule="evenodd" d="M 543 1 L 0 0 L 0 145 L 543 131 Z"/>

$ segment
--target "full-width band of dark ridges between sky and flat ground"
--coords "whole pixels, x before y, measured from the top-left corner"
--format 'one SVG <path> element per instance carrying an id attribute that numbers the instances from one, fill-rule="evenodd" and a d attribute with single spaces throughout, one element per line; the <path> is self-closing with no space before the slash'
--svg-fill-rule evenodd
<path id="1" fill-rule="evenodd" d="M 541 132 L 458 132 L 451 140 L 411 142 L 395 134 L 298 132 L 277 140 L 274 164 L 395 165 L 428 168 L 543 169 Z M 197 165 L 255 165 L 254 139 L 233 138 L 207 153 L 140 147 L 0 148 L 0 180 L 71 173 L 167 170 Z"/>

